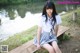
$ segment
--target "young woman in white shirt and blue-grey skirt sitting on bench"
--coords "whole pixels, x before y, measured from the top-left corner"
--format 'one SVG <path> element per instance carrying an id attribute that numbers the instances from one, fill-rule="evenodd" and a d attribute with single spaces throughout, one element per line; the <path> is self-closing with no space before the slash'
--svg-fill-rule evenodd
<path id="1" fill-rule="evenodd" d="M 34 44 L 38 49 L 43 47 L 49 53 L 62 53 L 57 44 L 57 32 L 61 22 L 54 3 L 47 2 L 38 23 L 37 37 L 34 38 Z"/>

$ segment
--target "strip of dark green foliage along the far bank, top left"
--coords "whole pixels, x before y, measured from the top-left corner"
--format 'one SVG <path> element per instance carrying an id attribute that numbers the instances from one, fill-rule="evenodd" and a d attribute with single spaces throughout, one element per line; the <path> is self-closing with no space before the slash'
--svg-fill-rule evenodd
<path id="1" fill-rule="evenodd" d="M 46 0 L 0 0 L 1 5 L 9 4 L 21 4 L 21 3 L 35 3 L 35 2 L 44 2 Z"/>

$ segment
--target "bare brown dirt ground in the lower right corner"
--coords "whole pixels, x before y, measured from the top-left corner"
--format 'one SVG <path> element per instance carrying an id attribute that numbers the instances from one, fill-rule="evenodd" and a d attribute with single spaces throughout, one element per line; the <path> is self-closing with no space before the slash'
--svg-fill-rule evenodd
<path id="1" fill-rule="evenodd" d="M 80 53 L 80 26 L 73 24 L 66 33 L 70 33 L 71 38 L 60 44 L 62 53 Z"/>

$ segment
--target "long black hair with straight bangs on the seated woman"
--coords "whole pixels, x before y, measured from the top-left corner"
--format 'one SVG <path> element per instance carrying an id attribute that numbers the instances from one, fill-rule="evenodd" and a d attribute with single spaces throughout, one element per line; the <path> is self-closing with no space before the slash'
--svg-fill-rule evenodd
<path id="1" fill-rule="evenodd" d="M 51 23 L 54 21 L 54 24 L 52 24 L 53 29 L 54 29 L 54 25 L 56 23 L 56 15 L 57 15 L 57 12 L 56 12 L 56 8 L 55 8 L 54 3 L 53 2 L 50 2 L 50 1 L 47 1 L 46 4 L 44 5 L 42 15 L 45 15 L 45 17 L 46 17 L 45 22 L 47 22 L 47 20 L 48 20 L 46 9 L 52 9 L 53 10 Z"/>

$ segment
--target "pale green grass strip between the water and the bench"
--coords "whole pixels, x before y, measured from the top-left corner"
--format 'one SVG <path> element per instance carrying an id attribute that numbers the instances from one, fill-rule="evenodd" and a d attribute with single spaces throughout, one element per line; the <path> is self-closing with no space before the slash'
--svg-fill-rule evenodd
<path id="1" fill-rule="evenodd" d="M 29 30 L 26 30 L 21 33 L 14 34 L 13 36 L 9 37 L 7 40 L 1 42 L 1 45 L 8 45 L 9 51 L 26 43 L 27 41 L 33 39 L 36 35 L 37 26 L 32 27 Z"/>

